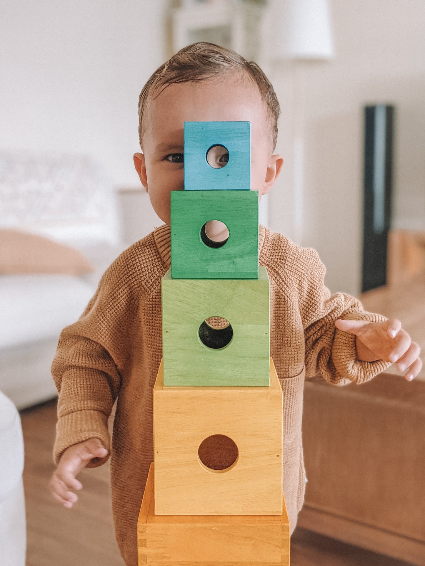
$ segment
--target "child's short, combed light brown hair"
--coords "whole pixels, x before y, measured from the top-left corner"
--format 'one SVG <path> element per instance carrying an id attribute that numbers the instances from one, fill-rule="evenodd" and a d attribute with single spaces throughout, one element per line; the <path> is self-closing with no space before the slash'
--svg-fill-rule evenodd
<path id="1" fill-rule="evenodd" d="M 257 85 L 269 115 L 274 149 L 278 138 L 278 117 L 281 109 L 269 79 L 257 63 L 247 61 L 230 49 L 207 42 L 193 43 L 180 49 L 148 79 L 139 96 L 139 140 L 141 147 L 143 121 L 148 102 L 158 96 L 164 88 L 167 88 L 170 84 L 207 80 L 231 71 L 239 71 L 248 75 L 252 82 Z"/>

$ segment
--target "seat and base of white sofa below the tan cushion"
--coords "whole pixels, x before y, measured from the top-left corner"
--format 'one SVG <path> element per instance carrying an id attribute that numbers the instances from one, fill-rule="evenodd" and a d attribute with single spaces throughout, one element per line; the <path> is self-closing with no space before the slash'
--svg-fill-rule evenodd
<path id="1" fill-rule="evenodd" d="M 50 365 L 59 332 L 94 291 L 80 277 L 0 276 L 0 391 L 19 409 L 56 395 Z"/>

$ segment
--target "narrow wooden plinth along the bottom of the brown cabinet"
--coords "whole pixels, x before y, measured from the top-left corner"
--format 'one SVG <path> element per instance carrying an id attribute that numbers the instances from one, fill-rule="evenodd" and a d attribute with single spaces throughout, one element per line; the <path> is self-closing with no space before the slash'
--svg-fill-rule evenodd
<path id="1" fill-rule="evenodd" d="M 391 558 L 425 566 L 425 542 L 415 541 L 375 527 L 363 525 L 305 505 L 298 526 L 338 541 L 379 552 Z"/>

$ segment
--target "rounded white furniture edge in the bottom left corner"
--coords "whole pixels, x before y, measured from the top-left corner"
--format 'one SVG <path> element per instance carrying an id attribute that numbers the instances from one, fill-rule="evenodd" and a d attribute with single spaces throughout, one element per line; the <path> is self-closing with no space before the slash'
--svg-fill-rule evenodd
<path id="1" fill-rule="evenodd" d="M 15 405 L 0 392 L 0 564 L 25 566 L 24 442 Z"/>

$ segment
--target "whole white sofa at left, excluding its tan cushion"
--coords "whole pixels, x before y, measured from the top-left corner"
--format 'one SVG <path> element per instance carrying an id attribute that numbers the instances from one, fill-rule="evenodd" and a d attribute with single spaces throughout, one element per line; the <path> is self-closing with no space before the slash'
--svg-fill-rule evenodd
<path id="1" fill-rule="evenodd" d="M 87 157 L 0 151 L 0 201 L 0 228 L 66 243 L 96 267 L 84 277 L 0 273 L 0 391 L 24 409 L 56 396 L 50 365 L 59 332 L 124 246 L 116 195 Z"/>

